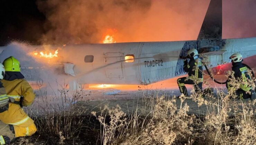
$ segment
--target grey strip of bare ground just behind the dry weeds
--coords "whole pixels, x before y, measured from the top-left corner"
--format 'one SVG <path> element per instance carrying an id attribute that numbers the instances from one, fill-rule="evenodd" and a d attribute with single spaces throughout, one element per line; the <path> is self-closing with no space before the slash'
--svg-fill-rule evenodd
<path id="1" fill-rule="evenodd" d="M 179 95 L 179 93 L 177 92 L 177 90 L 173 91 L 173 90 L 165 90 L 165 91 L 150 91 L 147 92 L 149 95 L 150 94 L 158 94 L 159 96 L 165 96 L 165 98 L 168 99 L 172 99 L 173 97 L 175 97 L 175 95 Z M 148 95 L 147 94 L 147 95 Z M 105 105 L 108 105 L 109 107 L 116 107 L 116 105 L 119 105 L 122 109 L 123 112 L 125 112 L 127 115 L 132 114 L 134 111 L 138 111 L 138 113 L 143 114 L 145 112 L 145 108 L 146 104 L 144 103 L 144 99 L 141 96 L 145 96 L 145 92 L 137 92 L 137 91 L 133 91 L 133 92 L 121 92 L 117 95 L 104 95 L 101 96 L 104 99 L 100 99 L 100 100 L 84 100 L 84 101 L 79 101 L 77 102 L 77 104 L 84 106 L 88 109 L 88 111 L 86 113 L 84 113 L 83 115 L 90 115 L 92 111 L 97 112 L 98 114 L 100 114 L 100 110 L 102 108 L 104 108 Z M 133 97 L 131 97 L 133 96 Z M 218 95 L 216 94 L 216 92 L 214 92 L 214 97 L 218 97 Z M 209 98 L 204 98 L 204 99 L 208 99 Z M 241 100 L 233 100 L 233 101 L 241 101 Z M 246 102 L 248 100 L 244 100 L 244 102 Z M 177 108 L 181 107 L 181 100 L 180 99 L 176 99 L 175 102 Z M 206 105 L 201 105 L 200 107 L 198 107 L 197 102 L 195 102 L 192 99 L 186 99 L 184 100 L 184 102 L 182 103 L 182 106 L 184 106 L 185 104 L 187 104 L 189 106 L 189 112 L 188 114 L 195 114 L 196 116 L 200 117 L 200 116 L 204 116 L 207 112 L 213 112 L 214 110 Z M 215 110 L 217 111 L 217 110 Z"/>

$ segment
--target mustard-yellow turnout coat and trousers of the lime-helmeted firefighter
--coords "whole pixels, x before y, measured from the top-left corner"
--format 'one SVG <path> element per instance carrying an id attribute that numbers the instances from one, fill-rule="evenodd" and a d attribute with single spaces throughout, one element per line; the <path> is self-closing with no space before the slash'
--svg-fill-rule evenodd
<path id="1" fill-rule="evenodd" d="M 35 94 L 25 79 L 2 80 L 7 96 L 19 102 L 22 98 L 22 105 L 29 106 L 33 103 Z M 34 120 L 32 120 L 20 107 L 19 104 L 9 103 L 9 109 L 0 113 L 0 120 L 5 124 L 14 127 L 15 137 L 30 136 L 36 132 Z"/>

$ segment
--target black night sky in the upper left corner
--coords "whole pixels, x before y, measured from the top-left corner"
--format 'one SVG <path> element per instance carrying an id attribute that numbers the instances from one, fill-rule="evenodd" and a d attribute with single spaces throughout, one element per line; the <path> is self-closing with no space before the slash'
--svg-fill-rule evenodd
<path id="1" fill-rule="evenodd" d="M 13 40 L 39 44 L 46 31 L 46 17 L 38 10 L 36 0 L 1 0 L 0 18 L 0 46 Z"/>

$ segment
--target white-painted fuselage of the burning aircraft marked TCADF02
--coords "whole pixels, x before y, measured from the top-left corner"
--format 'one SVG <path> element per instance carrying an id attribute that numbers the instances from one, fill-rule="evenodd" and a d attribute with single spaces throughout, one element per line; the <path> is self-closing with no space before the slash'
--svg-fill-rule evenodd
<path id="1" fill-rule="evenodd" d="M 215 42 L 207 41 L 212 40 L 65 45 L 47 48 L 59 49 L 58 63 L 64 65 L 63 71 L 73 78 L 73 87 L 77 87 L 77 84 L 147 85 L 184 75 L 184 72 L 177 69 L 177 64 L 179 65 L 181 51 L 191 47 L 189 45 L 185 48 L 185 43 L 199 43 L 198 50 L 216 46 Z M 228 62 L 230 55 L 235 52 L 241 53 L 244 58 L 256 55 L 256 38 L 227 39 L 223 40 L 223 44 L 218 51 L 201 55 L 207 56 L 212 66 Z M 29 54 L 41 49 L 44 49 L 43 46 L 30 46 L 25 51 Z M 11 55 L 15 56 L 1 53 L 0 57 L 3 60 Z M 88 55 L 94 57 L 93 62 L 84 61 Z M 125 62 L 126 55 L 134 55 L 134 62 Z M 25 61 L 20 61 L 24 67 L 29 67 Z"/>

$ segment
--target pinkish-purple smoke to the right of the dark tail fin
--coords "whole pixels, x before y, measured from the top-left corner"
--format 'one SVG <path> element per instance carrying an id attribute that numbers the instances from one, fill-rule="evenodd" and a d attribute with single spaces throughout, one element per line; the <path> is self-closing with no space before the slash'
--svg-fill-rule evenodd
<path id="1" fill-rule="evenodd" d="M 255 0 L 223 0 L 222 38 L 256 37 Z"/>

